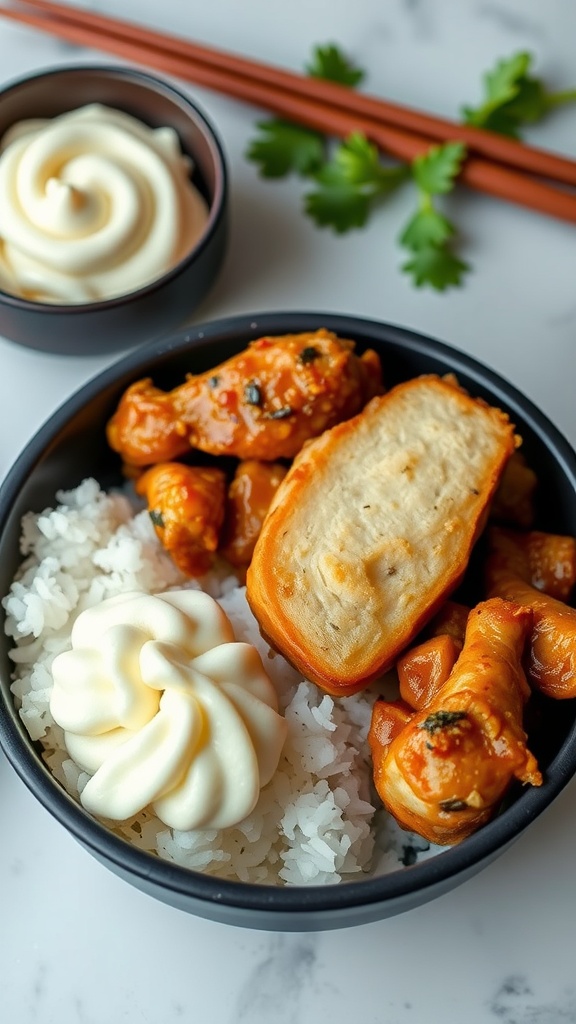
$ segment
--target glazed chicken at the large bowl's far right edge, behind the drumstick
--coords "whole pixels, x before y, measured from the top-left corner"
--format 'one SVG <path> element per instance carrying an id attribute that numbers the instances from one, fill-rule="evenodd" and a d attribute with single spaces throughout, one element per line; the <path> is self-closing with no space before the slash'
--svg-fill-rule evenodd
<path id="1" fill-rule="evenodd" d="M 547 696 L 576 696 L 576 609 L 565 603 L 576 578 L 571 537 L 492 527 L 486 583 L 490 596 L 533 611 L 528 675 Z"/>

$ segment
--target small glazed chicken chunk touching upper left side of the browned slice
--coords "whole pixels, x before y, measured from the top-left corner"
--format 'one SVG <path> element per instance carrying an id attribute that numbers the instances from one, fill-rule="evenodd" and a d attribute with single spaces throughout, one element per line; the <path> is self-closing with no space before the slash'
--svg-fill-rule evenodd
<path id="1" fill-rule="evenodd" d="M 246 459 L 239 463 L 228 492 L 221 554 L 239 568 L 250 563 L 264 516 L 288 472 L 278 462 Z"/>

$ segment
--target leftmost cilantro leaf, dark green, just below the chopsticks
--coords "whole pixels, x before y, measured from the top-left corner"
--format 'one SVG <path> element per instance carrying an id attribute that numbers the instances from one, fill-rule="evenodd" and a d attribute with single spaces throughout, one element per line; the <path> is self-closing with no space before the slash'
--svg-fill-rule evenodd
<path id="1" fill-rule="evenodd" d="M 310 174 L 321 166 L 325 156 L 324 136 L 299 125 L 270 118 L 257 125 L 260 136 L 250 142 L 246 156 L 259 165 L 264 178 L 286 174 Z"/>

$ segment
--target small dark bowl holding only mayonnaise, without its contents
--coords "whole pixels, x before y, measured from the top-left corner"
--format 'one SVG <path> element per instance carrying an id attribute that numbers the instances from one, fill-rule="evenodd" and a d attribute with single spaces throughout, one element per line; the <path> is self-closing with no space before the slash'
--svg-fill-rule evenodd
<path id="1" fill-rule="evenodd" d="M 53 118 L 98 102 L 152 128 L 170 126 L 194 160 L 194 182 L 210 208 L 202 238 L 168 273 L 127 295 L 81 305 L 33 302 L 0 291 L 0 335 L 46 352 L 93 354 L 129 348 L 174 330 L 208 293 L 228 241 L 228 172 L 221 143 L 195 103 L 145 72 L 55 68 L 0 92 L 0 138 L 26 118 Z"/>

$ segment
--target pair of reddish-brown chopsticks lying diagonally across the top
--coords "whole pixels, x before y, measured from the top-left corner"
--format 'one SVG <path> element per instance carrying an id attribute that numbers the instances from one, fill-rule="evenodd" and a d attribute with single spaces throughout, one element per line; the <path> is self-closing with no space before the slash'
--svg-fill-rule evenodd
<path id="1" fill-rule="evenodd" d="M 413 160 L 435 143 L 460 140 L 468 151 L 460 180 L 498 199 L 576 223 L 576 195 L 563 187 L 576 186 L 576 161 L 560 155 L 52 0 L 24 0 L 15 7 L 0 7 L 0 15 L 328 135 L 343 138 L 353 131 L 363 132 L 383 153 L 402 161 Z"/>

